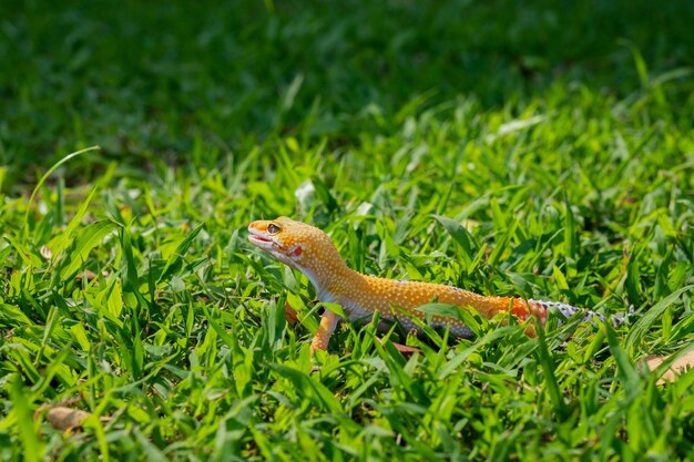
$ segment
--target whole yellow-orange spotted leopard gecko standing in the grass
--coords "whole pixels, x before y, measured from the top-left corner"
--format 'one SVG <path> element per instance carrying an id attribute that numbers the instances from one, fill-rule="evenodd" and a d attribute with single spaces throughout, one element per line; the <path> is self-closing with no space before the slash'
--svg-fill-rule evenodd
<path id="1" fill-rule="evenodd" d="M 461 308 L 471 307 L 487 319 L 510 311 L 521 321 L 537 317 L 543 326 L 551 311 L 570 318 L 580 309 L 557 301 L 524 300 L 512 297 L 484 297 L 457 287 L 441 284 L 399 281 L 361 275 L 347 267 L 330 238 L 315 226 L 287 217 L 257 220 L 248 226 L 248 240 L 273 257 L 304 273 L 316 289 L 320 301 L 339 304 L 351 321 L 371 319 L 378 311 L 382 319 L 397 319 L 407 330 L 419 332 L 412 321 L 425 319 L 426 314 L 417 309 L 432 301 L 450 304 Z M 602 315 L 590 310 L 586 320 L 593 321 Z M 326 310 L 320 320 L 312 349 L 325 350 L 339 316 Z M 449 327 L 455 337 L 470 338 L 472 331 L 460 320 L 445 316 L 432 316 L 432 327 Z M 534 336 L 532 325 L 525 331 Z"/>

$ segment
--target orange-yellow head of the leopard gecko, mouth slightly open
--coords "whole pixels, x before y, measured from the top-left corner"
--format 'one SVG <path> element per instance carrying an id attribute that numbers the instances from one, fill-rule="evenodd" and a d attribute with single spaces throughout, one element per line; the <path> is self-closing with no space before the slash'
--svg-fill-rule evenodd
<path id="1" fill-rule="evenodd" d="M 261 219 L 248 225 L 248 240 L 279 261 L 298 269 L 317 283 L 343 259 L 330 238 L 315 226 L 287 217 Z"/>

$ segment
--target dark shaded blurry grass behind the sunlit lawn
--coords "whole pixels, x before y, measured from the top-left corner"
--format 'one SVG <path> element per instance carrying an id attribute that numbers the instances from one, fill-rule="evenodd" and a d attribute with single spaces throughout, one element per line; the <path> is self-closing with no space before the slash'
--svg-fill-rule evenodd
<path id="1" fill-rule="evenodd" d="M 688 1 L 7 0 L 0 154 L 20 177 L 92 144 L 104 157 L 82 163 L 181 164 L 203 150 L 214 164 L 286 134 L 358 144 L 398 130 L 408 104 L 462 96 L 520 111 L 529 97 L 567 99 L 582 86 L 622 100 L 691 70 L 693 10 Z M 657 99 L 678 104 L 659 117 L 690 129 L 691 80 L 661 86 Z"/>

